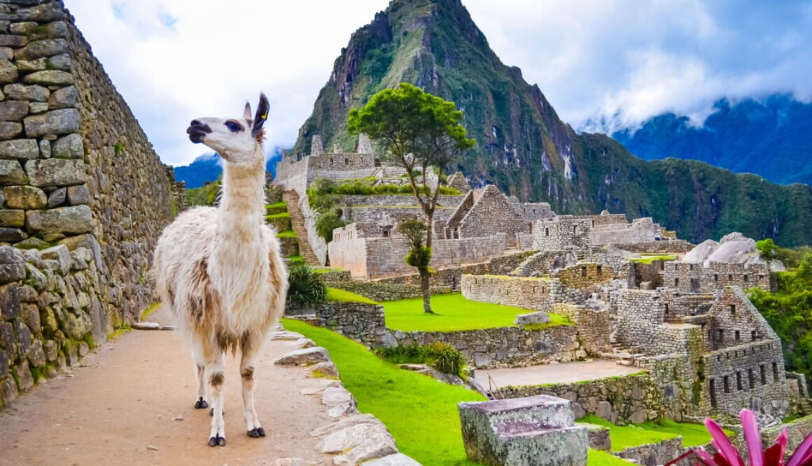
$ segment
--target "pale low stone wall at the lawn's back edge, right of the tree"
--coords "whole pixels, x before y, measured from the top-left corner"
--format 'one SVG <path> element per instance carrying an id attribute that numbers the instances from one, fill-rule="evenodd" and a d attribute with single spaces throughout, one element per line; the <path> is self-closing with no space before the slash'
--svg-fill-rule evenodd
<path id="1" fill-rule="evenodd" d="M 580 303 L 583 294 L 555 278 L 463 275 L 460 290 L 466 299 L 551 311 L 553 303 Z"/>

